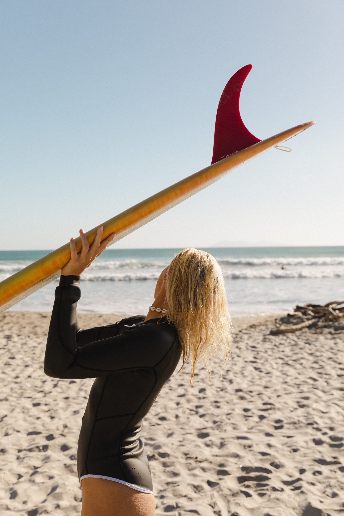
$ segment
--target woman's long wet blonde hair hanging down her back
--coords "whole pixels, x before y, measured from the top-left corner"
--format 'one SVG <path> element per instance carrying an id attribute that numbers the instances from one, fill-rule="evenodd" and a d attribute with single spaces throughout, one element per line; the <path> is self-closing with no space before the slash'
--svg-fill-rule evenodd
<path id="1" fill-rule="evenodd" d="M 181 369 L 189 361 L 192 380 L 200 360 L 210 375 L 214 355 L 225 363 L 232 343 L 223 276 L 214 256 L 193 248 L 176 254 L 167 271 L 166 295 L 166 317 L 182 345 Z"/>

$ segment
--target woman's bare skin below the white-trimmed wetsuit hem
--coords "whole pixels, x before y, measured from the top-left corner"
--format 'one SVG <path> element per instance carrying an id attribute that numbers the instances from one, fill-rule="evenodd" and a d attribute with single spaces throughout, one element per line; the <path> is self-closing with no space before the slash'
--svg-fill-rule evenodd
<path id="1" fill-rule="evenodd" d="M 119 482 L 84 478 L 81 516 L 154 516 L 153 494 L 140 493 Z"/>

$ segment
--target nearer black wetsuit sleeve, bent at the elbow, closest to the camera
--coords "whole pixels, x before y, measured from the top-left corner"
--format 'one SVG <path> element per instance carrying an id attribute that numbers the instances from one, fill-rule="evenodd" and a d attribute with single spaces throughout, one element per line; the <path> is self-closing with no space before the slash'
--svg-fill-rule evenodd
<path id="1" fill-rule="evenodd" d="M 75 314 L 80 294 L 77 276 L 61 276 L 45 350 L 46 375 L 94 378 L 120 370 L 154 367 L 173 344 L 160 337 L 157 325 L 145 325 L 77 347 Z"/>

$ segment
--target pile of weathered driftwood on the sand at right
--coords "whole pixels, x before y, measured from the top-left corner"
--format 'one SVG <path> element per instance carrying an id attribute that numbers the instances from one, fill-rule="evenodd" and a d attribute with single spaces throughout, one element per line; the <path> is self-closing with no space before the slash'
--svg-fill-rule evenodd
<path id="1" fill-rule="evenodd" d="M 289 317 L 313 317 L 307 319 L 300 324 L 292 326 L 281 326 L 275 330 L 271 330 L 271 335 L 277 335 L 279 333 L 292 333 L 294 331 L 302 330 L 308 326 L 318 322 L 323 318 L 327 322 L 337 321 L 338 319 L 344 319 L 344 301 L 330 301 L 326 304 L 312 304 L 308 303 L 304 306 L 297 305 L 294 312 L 288 314 Z"/>

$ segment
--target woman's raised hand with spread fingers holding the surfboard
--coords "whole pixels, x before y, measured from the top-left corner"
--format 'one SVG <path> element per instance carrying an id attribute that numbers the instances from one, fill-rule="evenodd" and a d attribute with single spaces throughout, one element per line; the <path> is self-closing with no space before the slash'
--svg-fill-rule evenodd
<path id="1" fill-rule="evenodd" d="M 91 247 L 88 245 L 88 241 L 83 229 L 80 229 L 80 238 L 83 247 L 81 251 L 77 253 L 75 247 L 75 240 L 71 238 L 71 259 L 61 269 L 61 276 L 81 276 L 81 273 L 91 265 L 93 260 L 102 254 L 106 246 L 110 243 L 116 233 L 111 233 L 105 240 L 102 240 L 103 226 L 100 226 L 97 230 L 94 242 Z"/>

